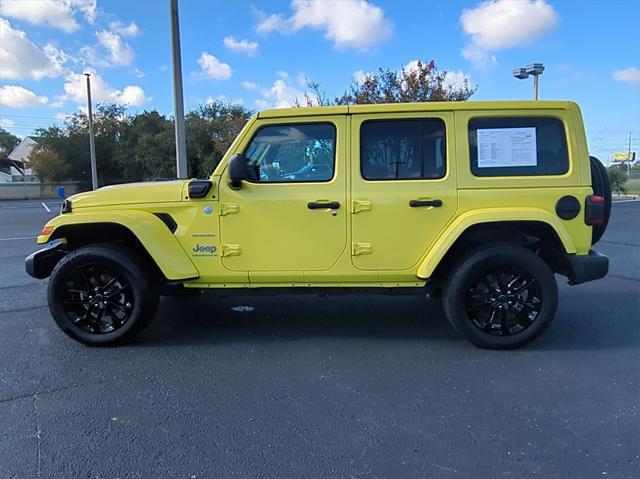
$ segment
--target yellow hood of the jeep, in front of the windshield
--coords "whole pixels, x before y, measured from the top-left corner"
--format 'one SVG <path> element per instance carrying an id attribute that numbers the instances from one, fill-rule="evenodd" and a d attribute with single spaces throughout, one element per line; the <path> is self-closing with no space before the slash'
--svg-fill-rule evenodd
<path id="1" fill-rule="evenodd" d="M 71 198 L 76 208 L 148 203 L 172 203 L 182 199 L 182 189 L 190 180 L 150 181 L 104 186 L 95 191 L 78 193 Z"/>

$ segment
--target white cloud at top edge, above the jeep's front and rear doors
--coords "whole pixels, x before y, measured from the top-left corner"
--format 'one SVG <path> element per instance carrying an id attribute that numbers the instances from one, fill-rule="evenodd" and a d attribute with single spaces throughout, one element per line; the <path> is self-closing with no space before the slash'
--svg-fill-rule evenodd
<path id="1" fill-rule="evenodd" d="M 322 30 L 338 48 L 360 50 L 384 42 L 392 31 L 384 11 L 366 0 L 293 0 L 291 8 L 289 18 L 256 11 L 260 17 L 257 31 L 289 33 L 309 27 Z"/>

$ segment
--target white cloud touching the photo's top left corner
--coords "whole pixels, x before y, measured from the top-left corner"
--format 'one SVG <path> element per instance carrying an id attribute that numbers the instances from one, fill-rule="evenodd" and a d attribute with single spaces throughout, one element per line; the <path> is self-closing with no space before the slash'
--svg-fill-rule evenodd
<path id="1" fill-rule="evenodd" d="M 96 0 L 2 0 L 0 15 L 17 18 L 32 25 L 49 25 L 67 33 L 80 25 L 75 16 L 81 13 L 89 23 L 96 18 Z"/>

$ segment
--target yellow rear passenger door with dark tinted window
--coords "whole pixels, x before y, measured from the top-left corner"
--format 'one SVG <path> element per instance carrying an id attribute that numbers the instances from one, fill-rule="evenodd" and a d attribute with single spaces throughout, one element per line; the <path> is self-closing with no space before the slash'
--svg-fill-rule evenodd
<path id="1" fill-rule="evenodd" d="M 457 209 L 450 112 L 352 117 L 352 258 L 408 270 Z"/>

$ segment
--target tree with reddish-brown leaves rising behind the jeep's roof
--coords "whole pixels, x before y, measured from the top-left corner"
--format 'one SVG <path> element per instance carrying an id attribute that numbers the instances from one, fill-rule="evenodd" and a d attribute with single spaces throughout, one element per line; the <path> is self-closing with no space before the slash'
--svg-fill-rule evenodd
<path id="1" fill-rule="evenodd" d="M 466 101 L 476 91 L 465 78 L 452 81 L 453 75 L 438 70 L 433 60 L 418 61 L 412 68 L 382 69 L 353 82 L 342 96 L 331 100 L 319 83 L 309 82 L 313 95 L 306 95 L 307 106 L 362 105 L 368 103 L 415 103 L 429 101 Z"/>

